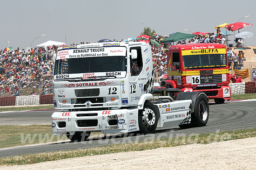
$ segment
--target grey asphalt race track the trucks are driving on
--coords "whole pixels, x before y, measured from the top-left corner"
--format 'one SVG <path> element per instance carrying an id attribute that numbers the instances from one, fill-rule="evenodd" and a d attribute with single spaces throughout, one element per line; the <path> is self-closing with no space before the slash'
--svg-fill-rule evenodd
<path id="1" fill-rule="evenodd" d="M 178 126 L 171 126 L 165 129 L 157 129 L 154 134 L 140 135 L 140 134 L 126 134 L 126 135 L 111 135 L 108 134 L 106 139 L 89 138 L 85 142 L 62 142 L 47 145 L 21 146 L 9 149 L 0 149 L 0 157 L 15 156 L 29 153 L 40 153 L 61 150 L 73 150 L 81 148 L 92 148 L 101 145 L 111 145 L 114 143 L 128 143 L 138 140 L 164 138 L 169 136 L 176 136 L 181 134 L 195 134 L 220 132 L 222 130 L 238 130 L 256 127 L 256 101 L 239 101 L 239 102 L 225 102 L 224 104 L 213 104 L 209 106 L 210 115 L 207 126 L 195 127 L 190 129 L 180 129 Z M 6 120 L 10 124 L 37 123 L 50 124 L 50 115 L 54 111 L 44 112 L 19 112 L 19 113 L 0 113 L 0 125 L 4 125 Z M 8 116 L 9 115 L 9 116 Z M 38 117 L 39 116 L 39 117 Z M 12 121 L 10 121 L 12 119 Z M 39 121 L 40 120 L 40 121 Z M 7 125 L 8 123 L 6 123 Z"/>

